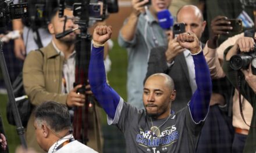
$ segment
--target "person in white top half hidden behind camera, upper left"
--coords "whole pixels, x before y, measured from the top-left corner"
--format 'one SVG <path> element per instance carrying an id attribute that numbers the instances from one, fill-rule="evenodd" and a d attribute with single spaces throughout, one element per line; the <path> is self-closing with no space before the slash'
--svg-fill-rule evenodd
<path id="1" fill-rule="evenodd" d="M 58 0 L 15 0 L 15 3 L 29 3 L 29 17 L 13 20 L 13 30 L 19 30 L 22 37 L 15 39 L 14 52 L 17 59 L 24 60 L 26 55 L 38 48 L 47 46 L 52 35 L 47 29 L 47 18 Z"/>

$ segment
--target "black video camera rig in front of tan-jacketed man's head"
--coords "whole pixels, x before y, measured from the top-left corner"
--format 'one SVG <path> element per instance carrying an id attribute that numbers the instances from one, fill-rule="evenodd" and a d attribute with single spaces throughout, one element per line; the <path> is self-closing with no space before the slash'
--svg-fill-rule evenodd
<path id="1" fill-rule="evenodd" d="M 118 12 L 118 1 L 117 0 L 60 0 L 59 1 L 59 17 L 65 17 L 65 22 L 68 17 L 64 16 L 65 8 L 73 9 L 73 16 L 78 17 L 74 23 L 79 25 L 79 28 L 72 30 L 65 30 L 61 34 L 55 35 L 56 39 L 65 37 L 67 34 L 80 29 L 80 37 L 88 37 L 87 29 L 89 27 L 89 20 L 91 21 L 103 21 L 106 19 L 106 13 Z M 84 35 L 84 36 L 83 36 Z"/>

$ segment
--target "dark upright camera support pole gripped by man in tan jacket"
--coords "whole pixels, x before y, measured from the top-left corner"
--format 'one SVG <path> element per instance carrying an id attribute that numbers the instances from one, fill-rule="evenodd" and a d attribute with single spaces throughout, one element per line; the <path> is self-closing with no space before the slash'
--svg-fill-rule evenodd
<path id="1" fill-rule="evenodd" d="M 76 74 L 75 74 L 75 82 L 74 86 L 76 85 L 83 85 L 82 88 L 77 90 L 77 93 L 85 94 L 86 93 L 86 85 L 88 85 L 88 67 L 90 63 L 90 54 L 91 54 L 91 35 L 88 34 L 88 22 L 89 20 L 103 20 L 105 19 L 105 12 L 106 12 L 106 1 L 104 0 L 103 3 L 103 12 L 100 18 L 93 18 L 90 17 L 89 14 L 89 5 L 90 0 L 82 0 L 80 2 L 80 14 L 79 21 L 75 23 L 79 25 L 80 34 L 77 35 L 78 41 L 76 42 Z M 62 0 L 60 2 L 60 10 L 59 10 L 59 17 L 63 16 L 63 11 L 65 9 L 65 1 Z M 55 36 L 56 39 L 65 37 L 67 34 L 70 34 L 77 28 L 73 30 L 65 31 L 64 30 L 61 34 L 57 34 Z M 73 135 L 74 137 L 79 140 L 83 144 L 87 144 L 88 141 L 88 107 L 89 105 L 93 105 L 93 97 L 87 95 L 86 96 L 86 103 L 84 107 L 74 107 L 74 119 L 73 119 Z"/>

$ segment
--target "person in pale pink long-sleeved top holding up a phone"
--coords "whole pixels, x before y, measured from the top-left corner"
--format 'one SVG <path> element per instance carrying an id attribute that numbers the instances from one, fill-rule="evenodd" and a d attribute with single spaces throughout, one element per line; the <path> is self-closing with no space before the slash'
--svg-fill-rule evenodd
<path id="1" fill-rule="evenodd" d="M 254 23 L 256 23 L 255 17 Z M 241 32 L 240 34 L 234 35 L 233 37 L 229 37 L 228 39 L 226 39 L 226 41 L 224 41 L 221 45 L 218 46 L 219 36 L 229 35 L 229 33 L 232 32 L 230 31 L 232 30 L 232 28 L 230 28 L 230 24 L 227 24 L 227 22 L 229 22 L 229 19 L 225 16 L 216 16 L 215 19 L 212 20 L 212 28 L 210 32 L 211 37 L 209 38 L 209 41 L 207 42 L 207 45 L 204 48 L 205 60 L 209 65 L 209 70 L 211 72 L 211 77 L 213 79 L 226 78 L 226 74 L 222 69 L 224 51 L 230 46 L 233 46 L 236 43 L 237 39 L 241 37 L 254 37 L 255 30 L 251 29 L 245 32 Z M 241 96 L 241 101 L 243 103 L 243 107 L 241 108 L 243 111 L 244 120 L 248 124 L 246 125 L 240 113 L 239 92 L 236 89 L 234 90 L 232 88 L 226 89 L 226 91 L 227 90 L 230 90 L 230 92 L 234 93 L 233 98 L 229 100 L 229 104 L 227 103 L 227 107 L 230 110 L 229 115 L 232 115 L 232 125 L 234 128 L 232 152 L 240 153 L 243 152 L 244 143 L 246 142 L 247 135 L 250 129 L 248 125 L 250 125 L 251 118 L 253 116 L 253 107 L 243 96 Z"/>

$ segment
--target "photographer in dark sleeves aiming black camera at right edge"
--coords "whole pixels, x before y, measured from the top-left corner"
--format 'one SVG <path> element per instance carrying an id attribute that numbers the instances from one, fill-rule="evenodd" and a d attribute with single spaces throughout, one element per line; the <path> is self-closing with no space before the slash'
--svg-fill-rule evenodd
<path id="1" fill-rule="evenodd" d="M 224 61 L 223 61 L 223 71 L 225 72 L 229 81 L 233 84 L 233 86 L 239 89 L 238 74 L 239 71 L 233 70 L 230 67 L 230 59 L 232 56 L 241 53 L 250 53 L 255 52 L 254 48 L 254 39 L 250 37 L 240 37 L 237 39 L 236 43 L 232 46 L 232 48 L 227 48 L 224 53 Z M 254 57 L 255 58 L 255 57 Z M 253 75 L 251 70 L 251 64 L 248 70 L 241 70 L 244 75 L 241 77 L 241 94 L 249 101 L 249 103 L 253 106 L 253 118 L 251 119 L 251 127 L 246 139 L 246 144 L 244 145 L 243 152 L 255 152 L 256 151 L 256 128 L 254 127 L 256 124 L 255 112 L 256 112 L 256 94 L 255 94 L 255 86 L 256 86 L 256 76 Z M 253 126 L 253 127 L 252 127 Z"/>

